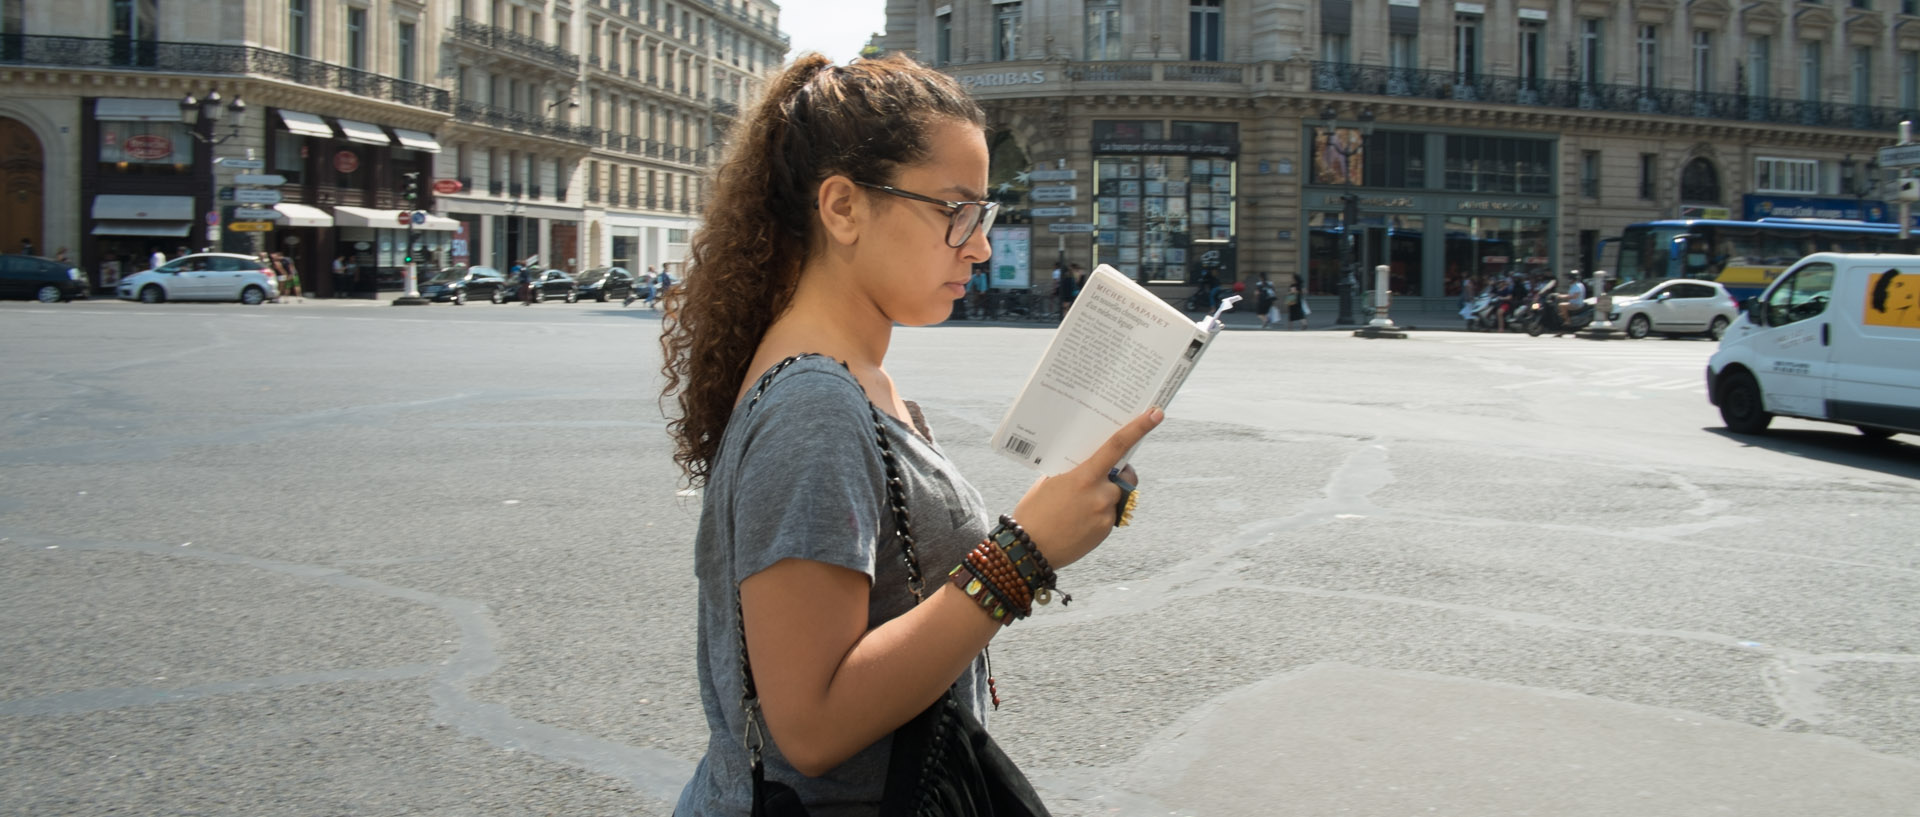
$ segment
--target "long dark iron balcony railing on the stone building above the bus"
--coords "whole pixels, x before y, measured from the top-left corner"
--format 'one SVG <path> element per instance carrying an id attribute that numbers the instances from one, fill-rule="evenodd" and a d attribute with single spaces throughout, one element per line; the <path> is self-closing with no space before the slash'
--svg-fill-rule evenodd
<path id="1" fill-rule="evenodd" d="M 1857 130 L 1895 130 L 1903 119 L 1916 119 L 1899 107 L 1325 61 L 1313 63 L 1313 90 Z"/>

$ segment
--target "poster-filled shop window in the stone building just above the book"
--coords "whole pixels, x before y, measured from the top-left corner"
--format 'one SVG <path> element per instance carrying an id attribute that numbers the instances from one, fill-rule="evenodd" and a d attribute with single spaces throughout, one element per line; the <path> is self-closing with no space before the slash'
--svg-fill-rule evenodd
<path id="1" fill-rule="evenodd" d="M 1229 280 L 1238 163 L 1188 155 L 1094 159 L 1094 263 L 1135 280 Z"/>

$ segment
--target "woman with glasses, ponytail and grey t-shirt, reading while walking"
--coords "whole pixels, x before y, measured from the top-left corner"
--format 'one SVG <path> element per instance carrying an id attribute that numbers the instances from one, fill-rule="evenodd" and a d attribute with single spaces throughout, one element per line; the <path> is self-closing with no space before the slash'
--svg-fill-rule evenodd
<path id="1" fill-rule="evenodd" d="M 991 255 L 983 125 L 906 58 L 810 54 L 733 130 L 660 339 L 703 487 L 710 738 L 676 815 L 747 815 L 762 763 L 814 815 L 877 813 L 895 731 L 954 698 L 983 721 L 987 642 L 1131 512 L 1112 466 L 1158 408 L 996 516 L 885 370 Z"/>

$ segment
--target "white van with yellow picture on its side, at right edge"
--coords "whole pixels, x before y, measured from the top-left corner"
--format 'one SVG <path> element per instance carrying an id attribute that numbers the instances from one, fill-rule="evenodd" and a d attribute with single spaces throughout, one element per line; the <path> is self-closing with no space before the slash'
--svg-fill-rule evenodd
<path id="1" fill-rule="evenodd" d="M 1707 399 L 1740 433 L 1774 414 L 1920 433 L 1920 255 L 1801 259 L 1720 338 Z"/>

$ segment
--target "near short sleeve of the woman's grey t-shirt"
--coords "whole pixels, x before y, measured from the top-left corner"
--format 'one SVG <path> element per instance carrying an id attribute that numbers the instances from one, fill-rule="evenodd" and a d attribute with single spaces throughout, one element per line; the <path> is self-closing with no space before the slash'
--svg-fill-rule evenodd
<path id="1" fill-rule="evenodd" d="M 866 393 L 837 362 L 801 361 L 751 410 L 733 485 L 733 583 L 785 558 L 872 581 L 887 468 Z"/>

